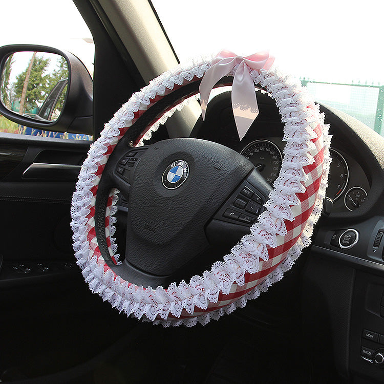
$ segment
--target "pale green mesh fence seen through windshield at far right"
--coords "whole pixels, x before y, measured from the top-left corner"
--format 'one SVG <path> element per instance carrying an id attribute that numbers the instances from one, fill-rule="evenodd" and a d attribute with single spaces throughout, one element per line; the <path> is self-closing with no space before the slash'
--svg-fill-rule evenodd
<path id="1" fill-rule="evenodd" d="M 379 84 L 342 84 L 301 79 L 303 86 L 321 102 L 346 112 L 384 136 L 384 86 Z"/>

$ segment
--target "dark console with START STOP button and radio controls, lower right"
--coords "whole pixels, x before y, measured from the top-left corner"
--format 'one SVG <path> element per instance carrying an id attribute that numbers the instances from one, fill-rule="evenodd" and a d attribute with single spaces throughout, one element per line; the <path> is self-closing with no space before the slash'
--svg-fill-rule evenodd
<path id="1" fill-rule="evenodd" d="M 304 273 L 305 332 L 355 384 L 384 382 L 383 238 L 382 217 L 321 227 Z"/>

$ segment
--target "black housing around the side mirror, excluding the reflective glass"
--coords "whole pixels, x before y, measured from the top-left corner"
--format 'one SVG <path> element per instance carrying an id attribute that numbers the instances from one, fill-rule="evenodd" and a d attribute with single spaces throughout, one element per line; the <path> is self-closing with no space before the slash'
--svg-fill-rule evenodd
<path id="1" fill-rule="evenodd" d="M 9 55 L 16 52 L 46 52 L 64 57 L 68 64 L 67 95 L 57 120 L 37 120 L 7 109 L 0 100 L 0 114 L 15 123 L 39 130 L 93 134 L 93 81 L 83 63 L 72 53 L 56 48 L 14 44 L 0 47 L 0 75 Z"/>

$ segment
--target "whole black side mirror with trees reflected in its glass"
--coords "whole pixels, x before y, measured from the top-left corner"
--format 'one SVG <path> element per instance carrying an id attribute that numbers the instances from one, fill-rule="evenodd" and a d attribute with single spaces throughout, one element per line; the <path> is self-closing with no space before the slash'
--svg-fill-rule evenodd
<path id="1" fill-rule="evenodd" d="M 0 114 L 24 126 L 92 135 L 93 82 L 69 52 L 0 47 Z"/>

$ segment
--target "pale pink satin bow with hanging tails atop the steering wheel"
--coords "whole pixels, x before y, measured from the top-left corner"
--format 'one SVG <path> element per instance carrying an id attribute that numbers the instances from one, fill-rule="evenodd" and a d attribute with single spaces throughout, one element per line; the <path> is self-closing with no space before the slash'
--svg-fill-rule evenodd
<path id="1" fill-rule="evenodd" d="M 269 52 L 258 52 L 247 57 L 237 56 L 230 51 L 219 52 L 205 73 L 199 87 L 203 120 L 212 88 L 222 77 L 228 75 L 234 67 L 239 65 L 232 83 L 232 110 L 241 140 L 259 114 L 254 83 L 247 67 L 257 70 L 269 69 L 273 61 L 274 57 L 269 56 Z"/>

